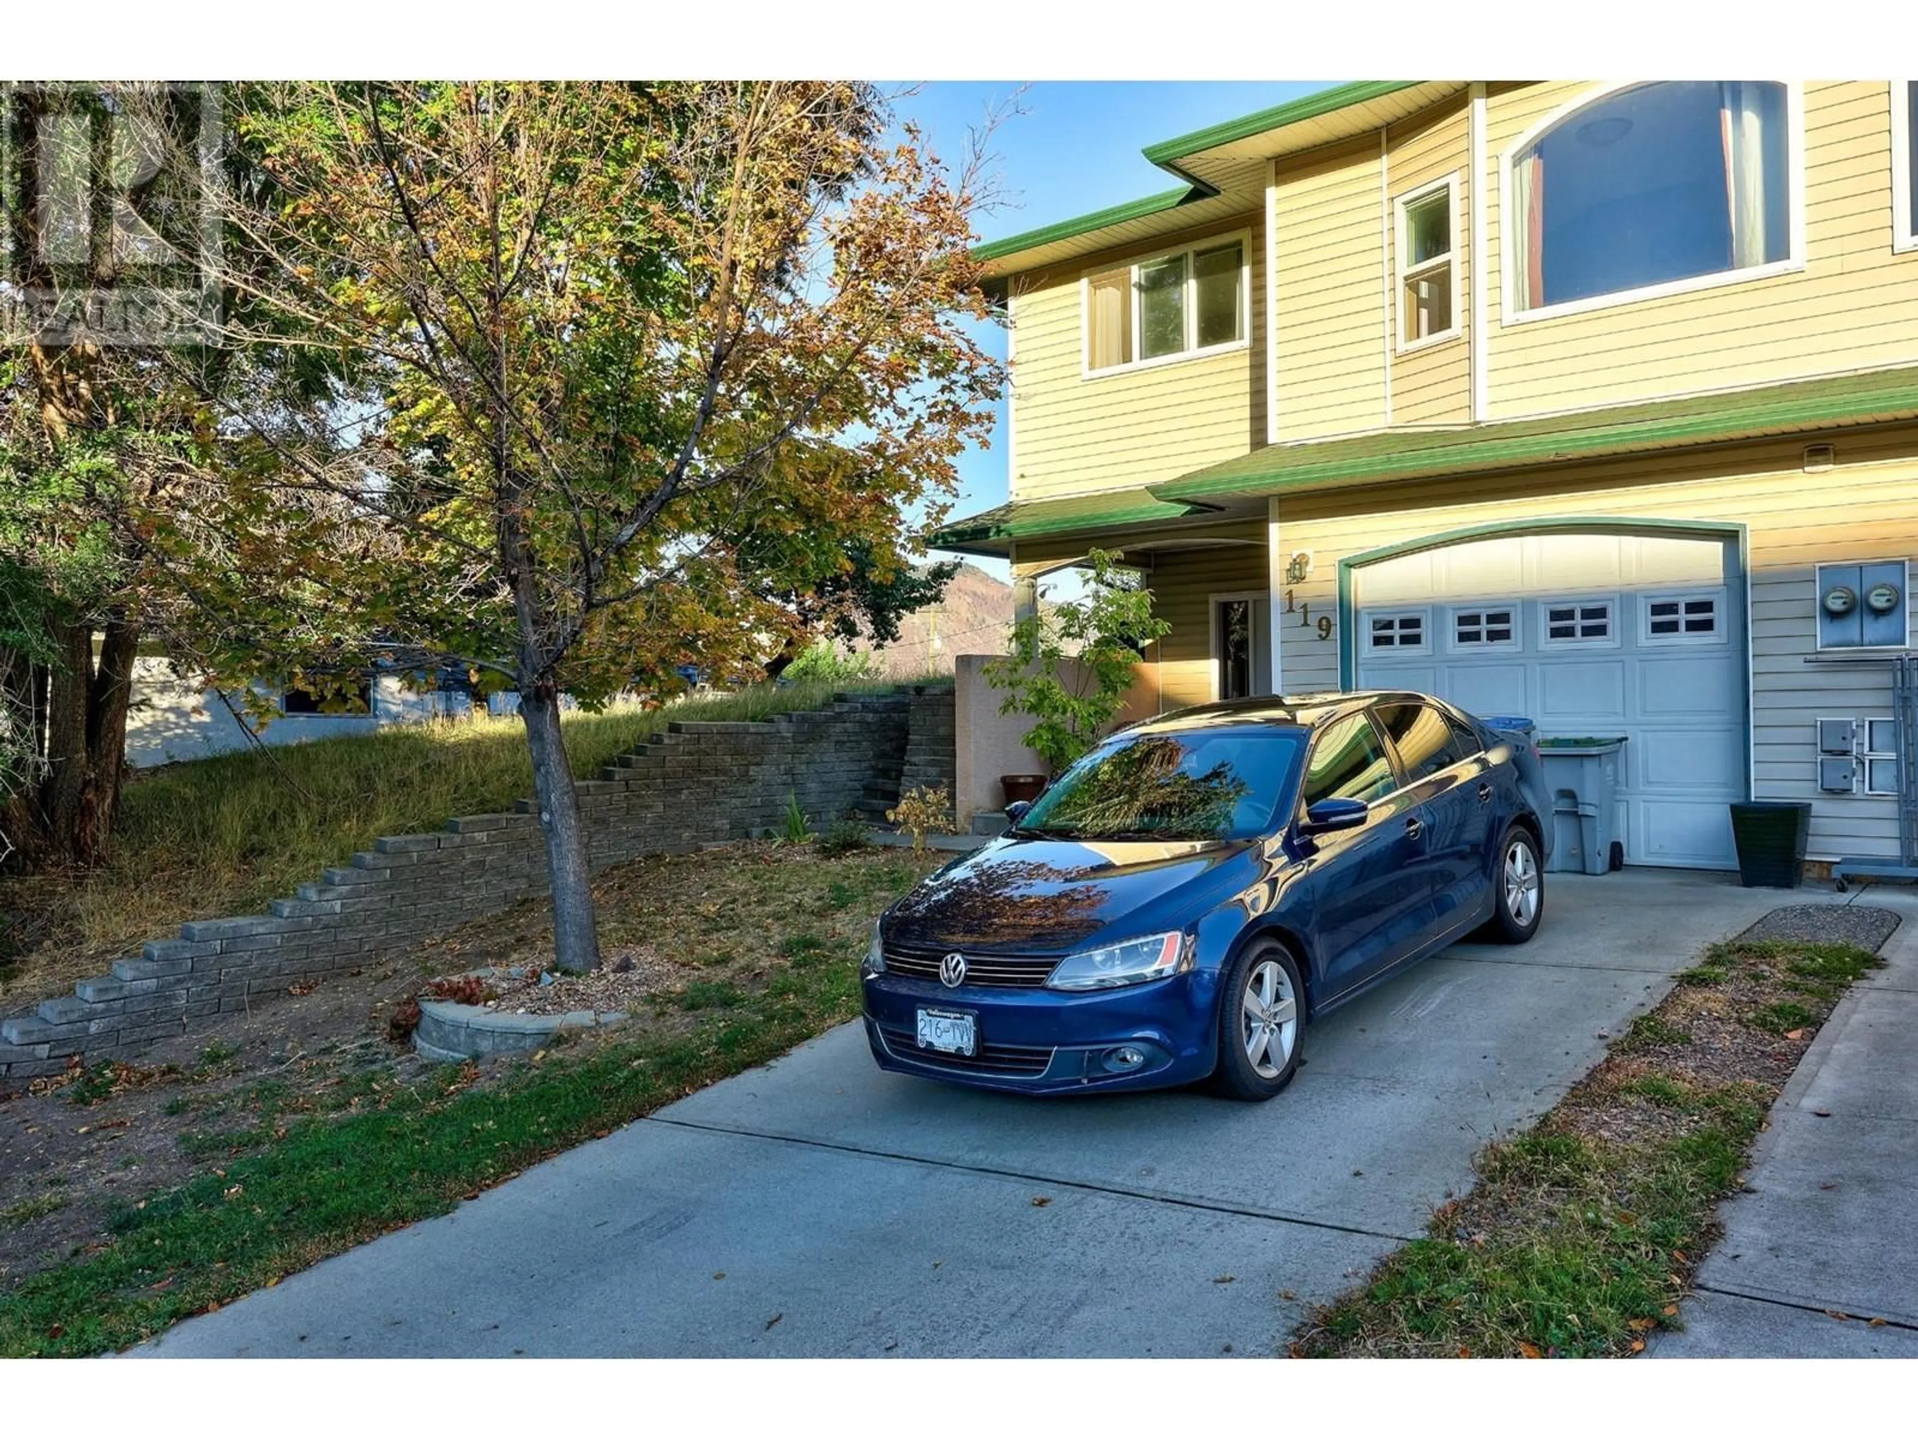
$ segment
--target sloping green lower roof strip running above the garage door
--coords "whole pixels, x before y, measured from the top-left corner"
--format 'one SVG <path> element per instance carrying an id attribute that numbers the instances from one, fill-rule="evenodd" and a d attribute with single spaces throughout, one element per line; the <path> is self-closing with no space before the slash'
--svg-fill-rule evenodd
<path id="1" fill-rule="evenodd" d="M 1151 487 L 1168 501 L 1345 489 L 1918 418 L 1918 366 L 1460 430 L 1268 445 Z"/>

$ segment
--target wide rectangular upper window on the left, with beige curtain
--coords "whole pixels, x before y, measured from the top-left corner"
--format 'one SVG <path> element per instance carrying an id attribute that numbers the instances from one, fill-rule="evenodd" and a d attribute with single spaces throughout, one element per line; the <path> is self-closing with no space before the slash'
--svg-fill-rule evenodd
<path id="1" fill-rule="evenodd" d="M 1243 343 L 1245 290 L 1243 238 L 1086 276 L 1086 372 Z"/>

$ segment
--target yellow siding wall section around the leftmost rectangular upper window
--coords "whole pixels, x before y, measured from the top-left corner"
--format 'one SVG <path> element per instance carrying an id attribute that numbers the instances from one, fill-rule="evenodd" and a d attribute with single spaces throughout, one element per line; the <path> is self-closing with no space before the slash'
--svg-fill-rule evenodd
<path id="1" fill-rule="evenodd" d="M 1011 493 L 1030 501 L 1172 480 L 1245 455 L 1266 439 L 1264 221 L 1256 213 L 1178 236 L 1245 234 L 1251 265 L 1249 343 L 1086 376 L 1080 276 L 1168 246 L 1111 249 L 1070 271 L 1013 284 Z"/>

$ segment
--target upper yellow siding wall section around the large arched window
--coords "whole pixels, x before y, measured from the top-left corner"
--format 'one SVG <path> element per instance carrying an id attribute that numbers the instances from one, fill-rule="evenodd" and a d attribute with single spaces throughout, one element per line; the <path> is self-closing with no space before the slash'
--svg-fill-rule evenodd
<path id="1" fill-rule="evenodd" d="M 1598 90 L 1592 83 L 1494 84 L 1488 90 L 1488 418 L 1918 359 L 1918 251 L 1891 249 L 1891 92 L 1885 81 L 1803 86 L 1803 271 L 1502 324 L 1502 155 L 1552 111 Z"/>

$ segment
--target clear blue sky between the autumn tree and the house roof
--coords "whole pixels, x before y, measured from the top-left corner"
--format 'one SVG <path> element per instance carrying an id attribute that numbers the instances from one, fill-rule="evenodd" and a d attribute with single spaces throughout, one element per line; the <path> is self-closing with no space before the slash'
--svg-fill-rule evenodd
<path id="1" fill-rule="evenodd" d="M 1327 84 L 1331 81 L 1049 81 L 1020 92 L 1017 81 L 936 81 L 903 96 L 898 111 L 917 121 L 932 150 L 955 163 L 965 153 L 967 130 L 976 129 L 992 106 L 1017 94 L 1020 113 L 1007 115 L 992 140 L 1007 203 L 978 223 L 982 240 L 997 240 L 1170 190 L 1178 180 L 1149 165 L 1139 150 Z M 986 326 L 980 338 L 1005 357 L 999 328 Z M 959 464 L 963 489 L 955 514 L 1005 501 L 1003 401 L 999 411 L 992 449 L 971 451 Z M 1005 572 L 997 560 L 986 568 Z"/>

